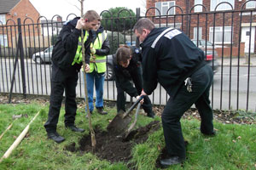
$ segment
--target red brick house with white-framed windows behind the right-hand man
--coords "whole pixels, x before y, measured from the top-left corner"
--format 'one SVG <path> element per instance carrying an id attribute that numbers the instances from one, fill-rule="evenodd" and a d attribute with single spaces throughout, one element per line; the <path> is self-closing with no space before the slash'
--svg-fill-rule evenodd
<path id="1" fill-rule="evenodd" d="M 206 39 L 214 42 L 216 46 L 232 46 L 232 55 L 237 56 L 239 45 L 242 52 L 248 52 L 248 45 L 246 44 L 244 48 L 243 46 L 250 37 L 250 30 L 251 53 L 256 51 L 256 2 L 247 1 L 147 0 L 146 15 L 149 18 L 152 17 L 156 26 L 180 28 L 191 39 Z M 241 43 L 239 44 L 240 33 Z M 230 48 L 226 48 L 224 53 L 227 51 L 230 51 Z"/>

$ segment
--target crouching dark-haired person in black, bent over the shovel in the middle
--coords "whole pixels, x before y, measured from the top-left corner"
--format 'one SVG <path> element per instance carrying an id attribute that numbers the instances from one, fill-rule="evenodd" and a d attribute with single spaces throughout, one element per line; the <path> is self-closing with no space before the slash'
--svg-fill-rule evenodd
<path id="1" fill-rule="evenodd" d="M 131 97 L 139 98 L 143 90 L 143 77 L 141 54 L 138 48 L 124 46 L 118 48 L 113 58 L 113 71 L 115 75 L 117 96 L 117 111 L 125 111 L 125 92 Z M 135 85 L 133 87 L 132 82 Z M 144 97 L 143 110 L 147 116 L 154 118 L 151 101 L 148 96 Z"/>

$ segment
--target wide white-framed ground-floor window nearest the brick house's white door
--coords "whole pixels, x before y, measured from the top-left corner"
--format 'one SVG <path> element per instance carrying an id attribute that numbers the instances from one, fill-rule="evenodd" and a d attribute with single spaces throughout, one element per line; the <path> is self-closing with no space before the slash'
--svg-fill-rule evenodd
<path id="1" fill-rule="evenodd" d="M 224 26 L 224 30 L 222 26 L 215 27 L 214 42 L 222 43 L 224 31 L 224 43 L 231 43 L 231 30 L 231 26 Z M 213 42 L 213 27 L 210 27 L 210 42 Z"/>

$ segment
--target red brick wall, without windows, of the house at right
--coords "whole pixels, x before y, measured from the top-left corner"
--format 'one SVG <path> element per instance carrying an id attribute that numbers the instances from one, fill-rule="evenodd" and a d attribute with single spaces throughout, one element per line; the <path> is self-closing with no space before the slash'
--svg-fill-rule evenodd
<path id="1" fill-rule="evenodd" d="M 147 0 L 147 8 L 155 7 L 156 2 L 167 2 L 172 0 Z M 242 0 L 239 2 L 235 0 L 235 10 L 241 10 L 241 6 L 243 3 L 246 3 L 246 0 Z M 206 8 L 203 8 L 203 12 L 211 12 L 210 7 L 211 0 L 204 0 L 203 5 Z M 194 27 L 202 27 L 202 39 L 209 40 L 209 27 L 213 26 L 233 26 L 233 47 L 238 47 L 239 42 L 239 31 L 240 31 L 240 22 L 242 25 L 250 23 L 251 20 L 253 23 L 256 23 L 256 15 L 240 15 L 240 13 L 218 13 L 214 14 L 213 11 L 211 14 L 202 14 L 202 13 L 194 13 L 194 8 L 192 8 L 195 3 L 194 0 L 176 0 L 176 5 L 182 8 L 183 14 L 189 15 L 180 15 L 181 9 L 176 8 L 176 16 L 167 16 L 163 18 L 154 18 L 154 23 L 159 24 L 161 26 L 166 26 L 166 23 L 181 23 L 183 32 L 185 32 L 191 39 L 194 38 Z M 191 10 L 192 8 L 192 10 Z M 244 6 L 243 9 L 245 9 Z M 190 13 L 191 11 L 191 13 Z M 255 9 L 254 9 L 255 11 Z M 148 10 L 147 16 L 154 16 L 155 9 L 152 8 Z M 233 17 L 232 17 L 233 15 Z M 189 20 L 190 18 L 190 20 Z M 215 20 L 215 21 L 214 21 Z M 233 24 L 232 24 L 233 23 Z M 256 34 L 255 34 L 256 35 Z M 255 37 L 256 40 L 256 37 Z M 225 44 L 225 46 L 230 47 L 230 44 Z M 256 50 L 256 42 L 255 42 L 255 50 Z"/>

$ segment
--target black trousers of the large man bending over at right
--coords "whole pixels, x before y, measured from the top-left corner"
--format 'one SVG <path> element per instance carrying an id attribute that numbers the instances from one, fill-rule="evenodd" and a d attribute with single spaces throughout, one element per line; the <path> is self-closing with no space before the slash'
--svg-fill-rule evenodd
<path id="1" fill-rule="evenodd" d="M 212 133 L 212 108 L 209 100 L 209 91 L 212 85 L 213 73 L 210 66 L 205 65 L 191 75 L 192 92 L 186 87 L 179 90 L 177 96 L 168 100 L 162 113 L 162 124 L 169 156 L 179 156 L 185 159 L 185 144 L 180 119 L 184 112 L 195 104 L 201 116 L 201 133 Z"/>

